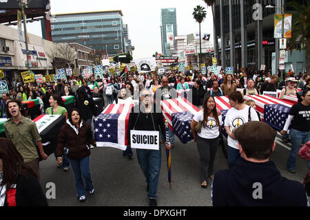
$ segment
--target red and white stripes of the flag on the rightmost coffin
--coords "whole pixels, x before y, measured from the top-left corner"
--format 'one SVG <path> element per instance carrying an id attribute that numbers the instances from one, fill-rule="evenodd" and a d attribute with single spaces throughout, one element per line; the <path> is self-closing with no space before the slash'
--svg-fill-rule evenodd
<path id="1" fill-rule="evenodd" d="M 256 104 L 256 110 L 260 113 L 262 118 L 265 118 L 265 104 L 283 104 L 289 108 L 292 107 L 293 104 L 287 102 L 285 100 L 280 100 L 273 96 L 268 95 L 253 95 L 253 96 L 244 96 L 245 100 L 254 100 Z"/>

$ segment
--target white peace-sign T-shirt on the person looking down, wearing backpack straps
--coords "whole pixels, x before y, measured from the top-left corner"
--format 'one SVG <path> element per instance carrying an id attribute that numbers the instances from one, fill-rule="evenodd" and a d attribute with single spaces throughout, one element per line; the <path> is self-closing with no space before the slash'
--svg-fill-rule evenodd
<path id="1" fill-rule="evenodd" d="M 251 121 L 258 121 L 258 115 L 254 108 L 251 108 Z M 249 121 L 249 106 L 245 105 L 245 108 L 242 110 L 237 110 L 235 108 L 231 108 L 227 111 L 224 126 L 229 126 L 230 131 L 234 131 L 234 129 L 238 129 L 239 126 L 245 124 Z M 238 140 L 232 139 L 229 135 L 227 137 L 227 144 L 232 148 L 238 149 Z"/>

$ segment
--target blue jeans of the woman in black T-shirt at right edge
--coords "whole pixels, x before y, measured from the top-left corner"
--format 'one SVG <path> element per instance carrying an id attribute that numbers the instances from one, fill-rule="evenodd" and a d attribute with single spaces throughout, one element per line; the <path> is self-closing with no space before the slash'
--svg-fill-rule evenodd
<path id="1" fill-rule="evenodd" d="M 287 168 L 289 170 L 295 170 L 296 156 L 299 148 L 302 144 L 309 142 L 310 131 L 298 131 L 296 129 L 291 129 L 289 136 L 291 137 L 291 151 L 289 153 L 289 158 L 287 158 Z M 310 168 L 309 162 L 308 167 Z"/>

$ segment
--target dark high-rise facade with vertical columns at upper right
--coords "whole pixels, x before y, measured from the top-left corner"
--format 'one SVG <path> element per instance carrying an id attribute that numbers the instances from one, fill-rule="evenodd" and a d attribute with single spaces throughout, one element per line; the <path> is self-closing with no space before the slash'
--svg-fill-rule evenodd
<path id="1" fill-rule="evenodd" d="M 214 4 L 214 43 L 218 43 L 218 65 L 222 67 L 254 67 L 260 70 L 272 68 L 276 73 L 279 65 L 273 61 L 273 53 L 279 53 L 279 40 L 273 36 L 274 14 L 289 9 L 290 0 L 217 0 Z M 304 0 L 299 0 L 299 3 Z M 267 5 L 276 8 L 265 8 Z M 254 17 L 260 17 L 255 19 Z M 279 56 L 275 56 L 279 57 Z M 274 65 L 273 65 L 274 63 Z"/>

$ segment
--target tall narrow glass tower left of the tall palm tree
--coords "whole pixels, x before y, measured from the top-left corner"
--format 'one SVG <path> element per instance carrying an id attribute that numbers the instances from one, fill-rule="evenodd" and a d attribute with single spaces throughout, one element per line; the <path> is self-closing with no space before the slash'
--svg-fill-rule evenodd
<path id="1" fill-rule="evenodd" d="M 169 56 L 169 49 L 172 49 L 176 42 L 174 36 L 177 36 L 176 28 L 176 8 L 161 9 L 161 50 L 162 54 Z"/>

